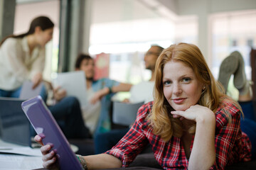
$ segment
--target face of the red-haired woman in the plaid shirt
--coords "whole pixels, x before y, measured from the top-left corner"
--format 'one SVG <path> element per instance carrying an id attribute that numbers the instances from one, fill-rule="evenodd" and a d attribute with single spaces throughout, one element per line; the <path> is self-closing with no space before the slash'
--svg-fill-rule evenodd
<path id="1" fill-rule="evenodd" d="M 163 70 L 164 96 L 176 111 L 186 111 L 198 103 L 203 84 L 183 62 L 167 62 Z"/>

